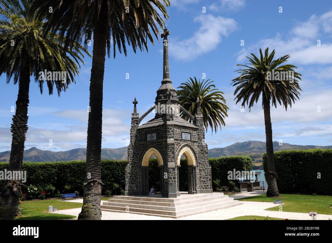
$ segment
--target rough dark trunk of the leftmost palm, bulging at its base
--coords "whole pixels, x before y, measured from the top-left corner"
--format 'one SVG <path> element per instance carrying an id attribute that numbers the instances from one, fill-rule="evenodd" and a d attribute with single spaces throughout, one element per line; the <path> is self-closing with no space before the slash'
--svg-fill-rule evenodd
<path id="1" fill-rule="evenodd" d="M 22 170 L 25 134 L 28 131 L 29 86 L 30 67 L 26 64 L 20 73 L 16 111 L 11 125 L 13 138 L 8 170 L 12 172 Z M 19 180 L 6 181 L 1 193 L 0 219 L 13 219 L 16 216 L 21 216 L 19 207 L 20 195 L 22 194 L 21 185 L 23 186 Z"/>

